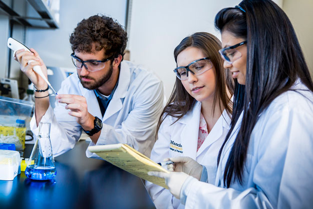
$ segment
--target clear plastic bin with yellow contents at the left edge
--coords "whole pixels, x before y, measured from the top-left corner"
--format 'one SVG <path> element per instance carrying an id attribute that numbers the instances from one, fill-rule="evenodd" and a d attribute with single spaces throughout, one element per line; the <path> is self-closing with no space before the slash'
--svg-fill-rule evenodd
<path id="1" fill-rule="evenodd" d="M 33 107 L 32 102 L 0 96 L 0 143 L 13 143 L 17 150 L 24 150 Z"/>

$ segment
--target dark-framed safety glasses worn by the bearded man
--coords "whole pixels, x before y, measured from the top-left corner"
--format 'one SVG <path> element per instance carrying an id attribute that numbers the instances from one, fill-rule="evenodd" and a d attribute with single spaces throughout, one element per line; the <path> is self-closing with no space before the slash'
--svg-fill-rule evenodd
<path id="1" fill-rule="evenodd" d="M 112 56 L 112 57 L 109 57 L 109 58 L 104 59 L 104 60 L 83 61 L 83 60 L 79 59 L 78 57 L 76 57 L 74 53 L 71 54 L 71 57 L 72 57 L 72 62 L 77 69 L 82 69 L 83 66 L 85 66 L 86 70 L 88 70 L 90 72 L 102 70 L 105 67 L 105 62 L 107 62 L 113 58 L 113 56 Z"/>

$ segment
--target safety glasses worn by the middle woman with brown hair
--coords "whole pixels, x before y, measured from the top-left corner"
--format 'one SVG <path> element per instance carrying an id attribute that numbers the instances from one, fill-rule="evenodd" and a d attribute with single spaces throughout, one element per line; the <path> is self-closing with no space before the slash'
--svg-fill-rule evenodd
<path id="1" fill-rule="evenodd" d="M 208 57 L 201 58 L 191 62 L 187 66 L 181 66 L 174 69 L 174 73 L 177 78 L 184 81 L 188 79 L 188 72 L 191 72 L 193 75 L 200 75 L 205 71 L 210 70 L 213 67 L 210 59 Z"/>

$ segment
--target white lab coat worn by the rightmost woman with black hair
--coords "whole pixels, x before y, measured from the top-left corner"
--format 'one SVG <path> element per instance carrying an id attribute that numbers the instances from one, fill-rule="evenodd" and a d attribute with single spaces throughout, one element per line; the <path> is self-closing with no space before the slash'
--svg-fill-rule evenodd
<path id="1" fill-rule="evenodd" d="M 292 88 L 307 90 L 299 80 Z M 313 94 L 300 93 L 283 93 L 261 113 L 251 134 L 243 184 L 235 181 L 227 189 L 224 168 L 241 114 L 222 151 L 214 185 L 191 176 L 183 184 L 186 208 L 313 207 Z"/>

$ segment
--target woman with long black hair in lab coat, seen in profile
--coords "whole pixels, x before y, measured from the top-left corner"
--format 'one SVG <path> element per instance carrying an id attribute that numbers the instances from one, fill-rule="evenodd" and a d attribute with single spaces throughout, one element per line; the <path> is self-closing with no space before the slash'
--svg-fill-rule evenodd
<path id="1" fill-rule="evenodd" d="M 151 174 L 186 208 L 312 208 L 313 84 L 289 19 L 270 0 L 244 0 L 221 10 L 215 26 L 235 78 L 215 181 Z"/>

